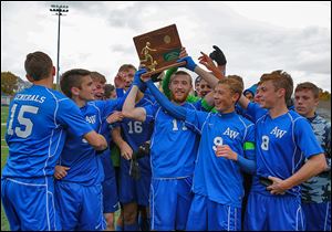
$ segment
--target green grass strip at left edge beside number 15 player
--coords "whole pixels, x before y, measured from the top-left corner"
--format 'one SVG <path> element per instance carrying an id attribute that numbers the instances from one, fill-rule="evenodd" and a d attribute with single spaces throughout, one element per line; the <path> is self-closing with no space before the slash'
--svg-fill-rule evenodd
<path id="1" fill-rule="evenodd" d="M 7 117 L 8 117 L 8 106 L 1 106 L 1 173 L 8 156 L 8 147 L 4 141 Z M 1 231 L 9 231 L 8 220 L 2 209 L 2 201 L 1 201 Z"/>

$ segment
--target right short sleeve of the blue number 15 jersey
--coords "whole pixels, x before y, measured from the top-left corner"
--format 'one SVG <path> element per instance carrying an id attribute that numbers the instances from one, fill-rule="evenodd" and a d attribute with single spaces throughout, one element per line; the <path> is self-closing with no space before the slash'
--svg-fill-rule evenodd
<path id="1" fill-rule="evenodd" d="M 73 135 L 83 136 L 93 130 L 91 125 L 84 119 L 80 108 L 69 98 L 59 102 L 55 117 L 56 123 L 64 125 Z"/>

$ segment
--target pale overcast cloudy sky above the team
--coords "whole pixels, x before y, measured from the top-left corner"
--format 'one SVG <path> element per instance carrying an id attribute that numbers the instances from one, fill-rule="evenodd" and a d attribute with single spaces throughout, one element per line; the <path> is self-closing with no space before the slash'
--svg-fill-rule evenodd
<path id="1" fill-rule="evenodd" d="M 331 92 L 330 1 L 1 1 L 1 72 L 25 80 L 24 59 L 34 51 L 48 53 L 56 66 L 52 3 L 69 6 L 61 18 L 60 73 L 82 67 L 113 83 L 121 64 L 138 64 L 134 36 L 176 23 L 194 60 L 218 45 L 227 56 L 227 74 L 241 75 L 247 87 L 262 73 L 281 68 L 295 84 L 311 81 Z"/>

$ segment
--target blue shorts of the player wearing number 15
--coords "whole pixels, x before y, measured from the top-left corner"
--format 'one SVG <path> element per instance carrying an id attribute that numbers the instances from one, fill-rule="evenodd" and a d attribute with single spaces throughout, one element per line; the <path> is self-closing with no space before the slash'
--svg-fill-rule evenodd
<path id="1" fill-rule="evenodd" d="M 53 177 L 2 178 L 1 199 L 11 231 L 61 231 Z"/>

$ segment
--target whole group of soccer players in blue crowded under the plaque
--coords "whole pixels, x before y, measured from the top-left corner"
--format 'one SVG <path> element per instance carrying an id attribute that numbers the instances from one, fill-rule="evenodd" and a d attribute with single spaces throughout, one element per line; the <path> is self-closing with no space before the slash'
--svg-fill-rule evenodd
<path id="1" fill-rule="evenodd" d="M 273 71 L 243 92 L 214 49 L 198 59 L 209 72 L 179 54 L 195 92 L 185 70 L 160 74 L 158 88 L 124 64 L 116 98 L 83 68 L 54 91 L 49 55 L 28 54 L 33 85 L 13 97 L 6 133 L 10 229 L 330 231 L 331 123 L 315 113 L 319 88 L 299 84 L 290 105 L 292 77 Z"/>

